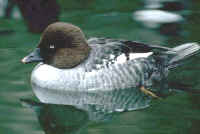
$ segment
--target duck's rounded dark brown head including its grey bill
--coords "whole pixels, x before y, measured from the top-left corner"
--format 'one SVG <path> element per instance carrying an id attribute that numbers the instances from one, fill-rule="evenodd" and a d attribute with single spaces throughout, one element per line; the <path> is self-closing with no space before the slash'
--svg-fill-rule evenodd
<path id="1" fill-rule="evenodd" d="M 22 62 L 43 61 L 57 68 L 72 68 L 82 63 L 89 52 L 90 47 L 79 27 L 56 22 L 44 30 L 35 52 Z"/>

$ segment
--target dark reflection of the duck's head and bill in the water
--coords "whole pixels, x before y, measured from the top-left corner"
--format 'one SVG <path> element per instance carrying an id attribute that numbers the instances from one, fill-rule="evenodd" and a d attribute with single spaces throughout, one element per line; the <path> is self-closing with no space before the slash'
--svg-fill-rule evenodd
<path id="1" fill-rule="evenodd" d="M 52 105 L 21 100 L 32 108 L 46 134 L 66 134 L 80 131 L 89 121 L 88 113 L 69 105 Z"/>

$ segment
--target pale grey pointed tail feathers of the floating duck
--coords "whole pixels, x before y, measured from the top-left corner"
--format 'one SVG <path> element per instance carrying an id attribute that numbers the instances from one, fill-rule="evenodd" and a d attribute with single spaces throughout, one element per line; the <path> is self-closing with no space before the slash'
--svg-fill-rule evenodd
<path id="1" fill-rule="evenodd" d="M 185 60 L 195 54 L 200 50 L 200 45 L 198 43 L 186 43 L 177 47 L 172 48 L 167 51 L 168 63 L 167 66 L 169 69 L 175 68 L 182 64 L 182 60 Z"/>

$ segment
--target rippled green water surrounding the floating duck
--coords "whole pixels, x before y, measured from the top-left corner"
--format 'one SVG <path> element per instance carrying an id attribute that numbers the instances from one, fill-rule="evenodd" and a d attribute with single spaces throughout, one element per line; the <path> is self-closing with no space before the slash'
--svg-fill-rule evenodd
<path id="1" fill-rule="evenodd" d="M 164 6 L 159 1 L 153 3 L 156 6 L 152 6 L 152 1 L 151 4 L 149 1 L 76 0 L 67 3 L 68 6 L 63 6 L 65 10 L 63 9 L 60 20 L 80 26 L 87 37 L 124 38 L 169 47 L 186 42 L 199 42 L 198 1 L 174 0 L 176 4 L 171 1 L 168 4 L 165 2 Z M 171 6 L 167 6 L 170 4 Z M 152 8 L 170 11 L 183 17 L 183 20 L 148 25 L 147 22 L 135 19 L 136 11 L 152 10 Z M 153 100 L 151 107 L 143 110 L 114 114 L 112 119 L 110 116 L 105 116 L 104 121 L 90 122 L 88 113 L 71 106 L 41 104 L 39 107 L 34 107 L 37 113 L 31 108 L 23 107 L 20 98 L 37 100 L 29 82 L 30 72 L 35 65 L 23 65 L 20 60 L 36 46 L 40 38 L 40 35 L 28 33 L 24 24 L 22 20 L 0 21 L 0 133 L 43 134 L 44 131 L 47 134 L 54 132 L 66 134 L 75 131 L 82 134 L 200 133 L 199 55 L 187 65 L 173 70 L 169 76 L 169 80 L 191 85 L 195 92 L 173 92 L 164 99 Z M 12 32 L 2 32 L 5 30 Z M 32 101 L 30 103 L 34 104 Z M 70 125 L 72 127 L 69 127 Z"/>

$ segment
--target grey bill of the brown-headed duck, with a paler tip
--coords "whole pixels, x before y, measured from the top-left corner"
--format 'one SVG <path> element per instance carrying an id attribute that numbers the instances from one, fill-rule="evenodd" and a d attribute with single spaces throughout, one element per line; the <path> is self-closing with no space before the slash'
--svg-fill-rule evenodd
<path id="1" fill-rule="evenodd" d="M 32 53 L 24 57 L 21 61 L 24 64 L 43 61 L 42 57 L 40 56 L 40 48 L 36 48 Z"/>

